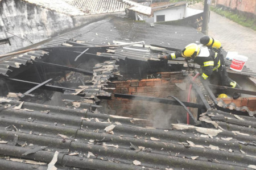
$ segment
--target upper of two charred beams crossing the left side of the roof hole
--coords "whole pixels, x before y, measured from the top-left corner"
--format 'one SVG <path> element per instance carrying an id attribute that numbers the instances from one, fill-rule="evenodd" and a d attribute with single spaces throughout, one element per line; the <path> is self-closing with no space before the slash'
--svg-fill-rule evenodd
<path id="1" fill-rule="evenodd" d="M 59 64 L 53 64 L 53 63 L 46 63 L 43 61 L 34 61 L 36 64 L 42 64 L 42 65 L 47 65 L 49 67 L 55 67 L 55 68 L 59 68 L 59 69 L 63 69 L 66 71 L 73 71 L 73 72 L 79 72 L 88 76 L 93 76 L 93 72 L 92 71 L 85 71 L 83 69 L 79 69 L 79 68 L 73 68 L 73 67 L 67 67 L 64 65 L 59 65 Z"/>

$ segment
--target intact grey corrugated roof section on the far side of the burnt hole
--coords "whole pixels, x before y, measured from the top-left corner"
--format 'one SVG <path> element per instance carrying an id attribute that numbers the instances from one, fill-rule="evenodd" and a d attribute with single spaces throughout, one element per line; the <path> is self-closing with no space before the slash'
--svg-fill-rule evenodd
<path id="1" fill-rule="evenodd" d="M 144 41 L 145 44 L 183 49 L 185 45 L 199 41 L 201 36 L 203 34 L 192 27 L 163 24 L 155 24 L 154 27 L 150 27 L 149 23 L 113 18 L 98 23 L 98 27 L 82 34 L 76 39 L 76 42 L 88 45 L 106 45 L 113 44 L 113 41 L 126 43 Z"/>

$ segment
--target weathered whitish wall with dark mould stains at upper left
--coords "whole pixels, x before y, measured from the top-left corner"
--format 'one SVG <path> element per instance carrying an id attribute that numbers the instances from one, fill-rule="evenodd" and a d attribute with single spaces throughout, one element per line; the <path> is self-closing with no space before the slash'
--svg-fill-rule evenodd
<path id="1" fill-rule="evenodd" d="M 0 2 L 0 37 L 7 30 L 11 45 L 0 46 L 0 54 L 60 35 L 72 28 L 102 19 L 106 14 L 69 16 L 19 0 Z M 19 38 L 18 38 L 18 37 Z"/>

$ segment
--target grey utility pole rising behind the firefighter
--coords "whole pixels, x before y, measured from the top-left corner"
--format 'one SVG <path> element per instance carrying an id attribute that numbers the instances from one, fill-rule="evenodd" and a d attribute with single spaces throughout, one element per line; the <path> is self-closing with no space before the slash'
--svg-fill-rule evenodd
<path id="1" fill-rule="evenodd" d="M 209 23 L 209 18 L 210 18 L 210 3 L 212 3 L 211 0 L 204 0 L 202 32 L 205 35 L 208 35 L 208 23 Z"/>

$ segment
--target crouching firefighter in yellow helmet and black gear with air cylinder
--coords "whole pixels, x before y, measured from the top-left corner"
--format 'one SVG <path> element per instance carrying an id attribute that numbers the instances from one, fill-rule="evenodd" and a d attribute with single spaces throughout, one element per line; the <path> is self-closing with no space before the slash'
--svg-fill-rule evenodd
<path id="1" fill-rule="evenodd" d="M 200 39 L 200 45 L 188 44 L 182 51 L 170 53 L 167 56 L 159 56 L 160 60 L 172 60 L 177 57 L 184 57 L 186 60 L 193 59 L 199 64 L 202 70 L 201 79 L 208 80 L 210 76 L 220 77 L 221 84 L 231 88 L 242 89 L 236 81 L 228 77 L 226 72 L 224 57 L 221 54 L 221 44 L 209 36 Z M 241 94 L 234 93 L 233 98 L 237 99 Z"/>

